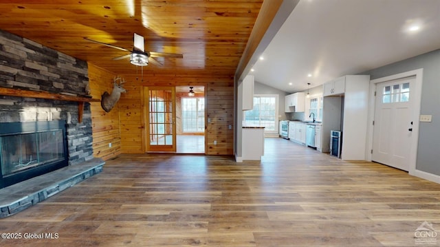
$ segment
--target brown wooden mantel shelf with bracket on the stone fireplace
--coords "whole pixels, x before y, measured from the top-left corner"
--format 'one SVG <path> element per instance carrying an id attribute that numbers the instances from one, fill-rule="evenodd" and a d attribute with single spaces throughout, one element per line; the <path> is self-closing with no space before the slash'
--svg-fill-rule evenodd
<path id="1" fill-rule="evenodd" d="M 99 102 L 99 99 L 88 98 L 84 96 L 70 96 L 65 94 L 52 94 L 48 92 L 38 92 L 22 89 L 12 89 L 0 87 L 0 95 L 4 96 L 16 96 L 16 97 L 26 97 L 26 98 L 45 98 L 48 100 L 63 100 L 63 101 L 74 101 L 78 102 L 78 122 L 83 122 L 83 112 L 85 102 Z"/>

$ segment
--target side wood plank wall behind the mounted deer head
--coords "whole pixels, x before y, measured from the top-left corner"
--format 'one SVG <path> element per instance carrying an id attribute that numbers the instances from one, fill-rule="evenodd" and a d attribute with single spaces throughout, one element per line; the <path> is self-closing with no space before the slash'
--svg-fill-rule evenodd
<path id="1" fill-rule="evenodd" d="M 101 98 L 105 91 L 111 93 L 115 74 L 89 63 L 89 87 L 93 98 Z M 91 103 L 94 157 L 109 160 L 121 153 L 120 120 L 118 104 L 106 112 L 101 103 Z M 109 147 L 111 143 L 111 147 Z"/>

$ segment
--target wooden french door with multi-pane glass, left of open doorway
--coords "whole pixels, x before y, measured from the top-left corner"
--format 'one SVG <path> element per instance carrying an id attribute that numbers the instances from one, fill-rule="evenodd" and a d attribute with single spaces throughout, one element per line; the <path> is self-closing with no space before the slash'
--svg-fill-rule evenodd
<path id="1" fill-rule="evenodd" d="M 175 87 L 148 87 L 145 92 L 148 97 L 147 151 L 175 152 Z"/>

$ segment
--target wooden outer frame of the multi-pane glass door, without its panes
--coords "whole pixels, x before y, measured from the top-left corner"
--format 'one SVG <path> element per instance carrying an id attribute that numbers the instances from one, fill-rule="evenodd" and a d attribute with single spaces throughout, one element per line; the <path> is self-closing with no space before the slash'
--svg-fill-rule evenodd
<path id="1" fill-rule="evenodd" d="M 144 87 L 144 89 L 142 90 L 143 94 L 142 94 L 142 101 L 143 101 L 143 125 L 144 125 L 144 131 L 142 134 L 142 148 L 144 149 L 144 153 L 146 152 L 155 152 L 152 151 L 150 148 L 150 142 L 149 142 L 149 138 L 150 138 L 150 120 L 149 120 L 149 105 L 150 105 L 150 98 L 149 98 L 149 91 L 150 90 L 160 90 L 160 89 L 171 89 L 171 94 L 172 94 L 172 98 L 173 98 L 173 107 L 172 107 L 172 111 L 173 111 L 173 146 L 171 147 L 171 149 L 164 149 L 162 150 L 163 152 L 174 152 L 176 151 L 176 103 L 175 103 L 175 87 L 174 86 L 146 86 Z M 146 98 L 148 96 L 148 98 Z M 165 145 L 164 145 L 165 146 Z M 159 152 L 162 152 L 159 151 Z"/>

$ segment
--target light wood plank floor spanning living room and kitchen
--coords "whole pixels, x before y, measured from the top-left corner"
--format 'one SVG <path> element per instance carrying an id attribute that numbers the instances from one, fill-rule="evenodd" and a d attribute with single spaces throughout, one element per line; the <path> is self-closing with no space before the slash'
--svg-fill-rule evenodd
<path id="1" fill-rule="evenodd" d="M 102 173 L 0 219 L 0 233 L 58 239 L 0 246 L 417 246 L 425 221 L 440 232 L 440 184 L 270 138 L 261 162 L 120 155 Z"/>

